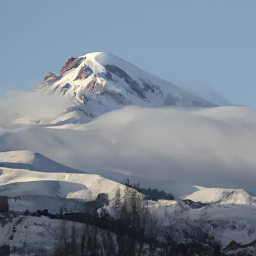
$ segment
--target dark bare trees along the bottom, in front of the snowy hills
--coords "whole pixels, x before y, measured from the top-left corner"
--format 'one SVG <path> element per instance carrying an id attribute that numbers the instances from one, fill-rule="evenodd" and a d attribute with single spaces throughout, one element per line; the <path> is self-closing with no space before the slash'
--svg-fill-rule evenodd
<path id="1" fill-rule="evenodd" d="M 215 239 L 214 227 L 203 220 L 194 223 L 186 219 L 182 228 L 160 229 L 160 220 L 138 191 L 133 186 L 126 186 L 124 191 L 118 187 L 110 205 L 111 214 L 104 207 L 86 213 L 86 220 L 84 213 L 63 214 L 65 220 L 83 220 L 85 224 L 78 238 L 74 224 L 67 232 L 65 222 L 62 223 L 54 256 L 224 255 Z"/>

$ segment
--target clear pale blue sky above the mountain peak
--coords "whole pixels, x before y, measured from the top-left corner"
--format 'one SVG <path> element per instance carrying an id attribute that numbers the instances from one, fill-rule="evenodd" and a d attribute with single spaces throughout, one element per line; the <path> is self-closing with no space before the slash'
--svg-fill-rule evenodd
<path id="1" fill-rule="evenodd" d="M 256 106 L 255 0 L 0 0 L 0 91 L 105 51 Z M 1 92 L 0 92 L 1 93 Z"/>

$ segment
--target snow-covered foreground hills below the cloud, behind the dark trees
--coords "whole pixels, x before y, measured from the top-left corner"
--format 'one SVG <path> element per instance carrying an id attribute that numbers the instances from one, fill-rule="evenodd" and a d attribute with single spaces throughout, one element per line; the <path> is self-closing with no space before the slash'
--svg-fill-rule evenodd
<path id="1" fill-rule="evenodd" d="M 36 161 L 38 156 L 41 160 L 40 168 Z M 115 212 L 118 208 L 118 205 L 116 206 L 118 200 L 123 196 L 125 198 L 127 187 L 125 188 L 123 184 L 99 175 L 80 173 L 80 171 L 76 173 L 73 169 L 69 172 L 60 172 L 60 169 L 58 172 L 53 172 L 52 166 L 56 166 L 56 162 L 27 150 L 2 152 L 0 157 L 5 159 L 5 166 L 1 167 L 0 175 L 0 219 L 2 223 L 0 247 L 7 246 L 13 252 L 11 255 L 25 255 L 22 253 L 28 251 L 41 251 L 42 254 L 51 253 L 50 251 L 56 247 L 56 244 L 61 243 L 63 219 L 68 220 L 65 225 L 69 226 L 69 230 L 73 225 L 69 221 L 77 222 L 75 223 L 77 240 L 82 237 L 84 224 L 91 225 L 91 230 L 94 230 L 95 226 L 103 228 L 105 231 L 100 231 L 100 235 L 102 232 L 110 231 L 111 239 L 113 241 L 117 239 L 118 225 L 115 227 L 114 222 L 111 225 L 107 224 L 109 220 L 104 223 L 105 217 L 95 219 L 94 215 L 91 215 L 91 218 L 85 212 L 94 212 L 97 209 L 98 216 L 101 215 L 100 212 L 105 212 L 114 218 L 121 216 L 120 213 L 116 215 Z M 26 167 L 28 162 L 31 168 L 24 169 L 23 167 Z M 17 166 L 18 168 L 13 167 L 15 163 L 20 164 Z M 45 169 L 43 170 L 43 168 Z M 67 170 L 67 168 L 63 166 L 63 170 Z M 116 197 L 118 189 L 121 195 L 119 199 Z M 223 248 L 232 240 L 249 243 L 256 239 L 255 197 L 242 189 L 204 187 L 195 187 L 195 189 L 195 192 L 187 195 L 184 199 L 148 199 L 146 204 L 143 203 L 139 207 L 139 212 L 142 214 L 140 217 L 150 214 L 157 221 L 156 226 L 159 231 L 157 231 L 158 242 L 156 245 L 158 247 L 155 246 L 158 249 L 155 251 L 155 255 L 159 255 L 158 250 L 163 248 L 163 231 L 169 231 L 170 228 L 183 230 L 184 225 L 190 226 L 189 230 L 190 228 L 203 228 L 203 232 L 207 235 L 214 226 L 212 229 L 214 241 L 212 240 L 212 242 L 220 242 L 220 246 Z M 129 192 L 130 195 L 132 193 Z M 139 199 L 142 197 L 139 195 L 134 198 L 138 200 L 137 203 L 142 203 Z M 130 202 L 133 202 L 133 199 Z M 147 212 L 146 215 L 143 215 L 145 212 Z M 66 228 L 68 229 L 68 227 Z M 127 232 L 129 232 L 128 229 Z M 183 234 L 175 231 L 171 235 L 174 238 Z M 71 237 L 69 238 L 71 239 Z M 97 238 L 97 242 L 100 243 L 100 239 Z M 139 237 L 136 239 L 140 241 Z M 191 239 L 195 239 L 195 237 Z M 196 239 L 201 238 L 197 237 Z M 209 239 L 211 239 L 210 236 Z M 210 240 L 208 241 L 210 242 Z M 118 244 L 117 242 L 114 245 L 116 250 L 120 246 Z M 143 251 L 147 251 L 147 240 L 143 244 Z"/>

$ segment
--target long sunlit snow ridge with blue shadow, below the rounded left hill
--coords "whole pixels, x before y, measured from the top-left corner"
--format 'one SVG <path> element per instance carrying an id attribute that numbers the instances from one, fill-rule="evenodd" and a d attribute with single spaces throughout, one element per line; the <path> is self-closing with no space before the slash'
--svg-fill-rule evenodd
<path id="1" fill-rule="evenodd" d="M 120 184 L 96 174 L 85 173 L 1 168 L 0 176 L 0 194 L 11 197 L 36 194 L 86 200 L 86 196 L 91 196 L 88 189 L 96 193 L 96 196 L 106 193 L 111 197 L 117 185 Z"/>

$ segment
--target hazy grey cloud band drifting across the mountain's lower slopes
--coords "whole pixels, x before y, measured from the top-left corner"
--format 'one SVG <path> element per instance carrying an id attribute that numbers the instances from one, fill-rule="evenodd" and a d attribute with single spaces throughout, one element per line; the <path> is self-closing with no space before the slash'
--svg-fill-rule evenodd
<path id="1" fill-rule="evenodd" d="M 157 180 L 159 188 L 168 190 L 176 181 L 256 192 L 256 110 L 252 108 L 129 106 L 64 129 L 38 124 L 8 128 L 16 112 L 49 120 L 70 103 L 64 97 L 49 101 L 30 97 L 0 100 L 0 124 L 5 127 L 0 131 L 1 151 L 29 149 L 88 173 Z"/>

